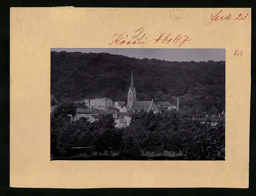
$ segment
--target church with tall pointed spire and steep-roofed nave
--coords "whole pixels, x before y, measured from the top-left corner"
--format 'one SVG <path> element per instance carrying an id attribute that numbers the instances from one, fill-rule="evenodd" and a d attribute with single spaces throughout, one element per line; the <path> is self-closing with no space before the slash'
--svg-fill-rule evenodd
<path id="1" fill-rule="evenodd" d="M 131 76 L 131 84 L 127 94 L 127 109 L 130 113 L 134 113 L 135 111 L 141 111 L 141 110 L 144 110 L 147 112 L 150 112 L 152 110 L 154 113 L 159 112 L 159 109 L 157 105 L 154 103 L 153 99 L 151 101 L 137 101 L 136 90 L 133 83 L 133 71 Z"/>

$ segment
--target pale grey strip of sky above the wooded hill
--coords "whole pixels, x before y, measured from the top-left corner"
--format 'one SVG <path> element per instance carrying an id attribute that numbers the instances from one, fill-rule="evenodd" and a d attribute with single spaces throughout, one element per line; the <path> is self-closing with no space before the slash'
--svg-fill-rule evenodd
<path id="1" fill-rule="evenodd" d="M 167 61 L 225 60 L 225 49 L 115 49 L 115 48 L 52 48 L 51 51 L 110 53 L 135 58 Z"/>

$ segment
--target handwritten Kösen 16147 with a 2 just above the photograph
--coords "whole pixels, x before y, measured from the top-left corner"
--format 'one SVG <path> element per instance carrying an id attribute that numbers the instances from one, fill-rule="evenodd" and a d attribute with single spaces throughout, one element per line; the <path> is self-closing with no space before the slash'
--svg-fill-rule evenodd
<path id="1" fill-rule="evenodd" d="M 189 39 L 187 35 L 173 35 L 172 33 L 162 33 L 155 39 L 148 39 L 146 34 L 144 33 L 144 28 L 141 27 L 135 31 L 135 35 L 128 36 L 124 35 L 123 33 L 115 33 L 113 36 L 114 40 L 109 43 L 109 45 L 115 44 L 115 45 L 145 45 L 148 42 L 153 43 L 162 43 L 162 44 L 168 44 L 168 43 L 177 43 L 179 44 L 179 47 L 183 46 L 185 42 L 190 41 L 192 39 Z"/>

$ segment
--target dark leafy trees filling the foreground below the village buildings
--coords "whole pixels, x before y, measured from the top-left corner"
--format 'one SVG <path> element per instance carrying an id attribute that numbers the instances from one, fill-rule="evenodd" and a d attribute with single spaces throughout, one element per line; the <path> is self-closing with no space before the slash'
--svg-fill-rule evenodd
<path id="1" fill-rule="evenodd" d="M 170 151 L 175 157 L 182 154 L 182 160 L 225 160 L 224 121 L 211 128 L 207 123 L 181 118 L 176 111 L 140 111 L 133 115 L 130 126 L 115 128 L 111 114 L 103 115 L 99 122 L 89 123 L 85 118 L 71 121 L 73 105 L 60 108 L 51 115 L 51 154 L 55 158 L 80 153 L 88 158 L 94 152 L 98 156 L 108 152 L 109 157 L 116 153 L 118 159 L 139 160 L 145 152 L 163 156 L 164 151 Z M 72 147 L 83 148 L 75 151 Z"/>

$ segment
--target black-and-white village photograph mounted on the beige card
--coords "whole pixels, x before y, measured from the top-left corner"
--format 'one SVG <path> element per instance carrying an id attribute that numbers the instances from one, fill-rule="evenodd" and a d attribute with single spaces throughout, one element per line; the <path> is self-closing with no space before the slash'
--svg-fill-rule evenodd
<path id="1" fill-rule="evenodd" d="M 225 160 L 225 49 L 51 49 L 51 160 Z"/>

